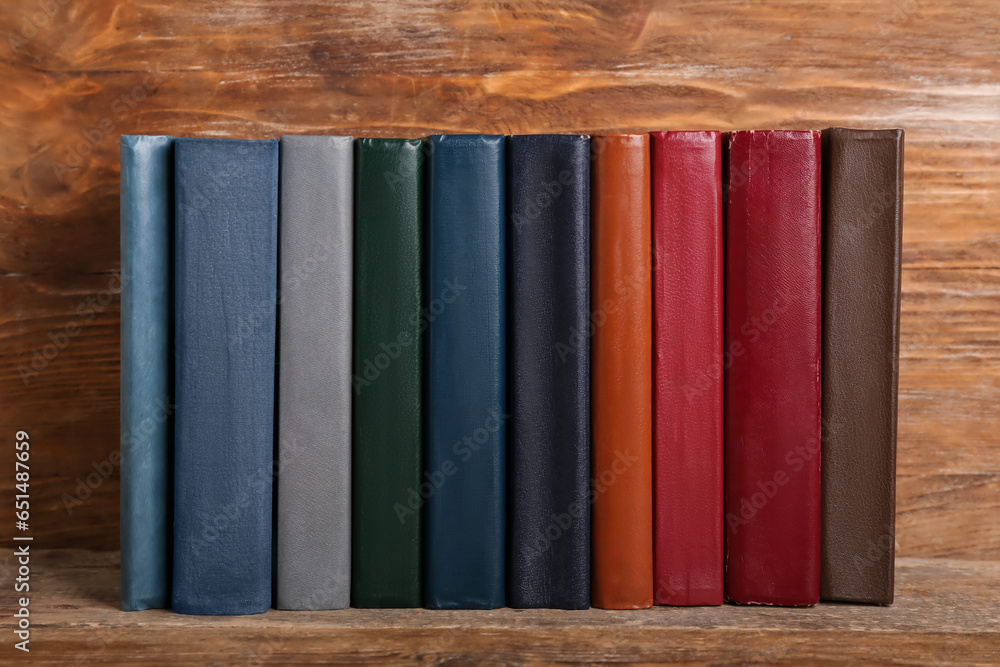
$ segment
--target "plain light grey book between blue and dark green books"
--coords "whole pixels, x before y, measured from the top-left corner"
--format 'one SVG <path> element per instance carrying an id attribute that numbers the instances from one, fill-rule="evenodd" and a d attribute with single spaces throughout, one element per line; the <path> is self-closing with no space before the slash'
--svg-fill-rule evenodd
<path id="1" fill-rule="evenodd" d="M 279 609 L 351 593 L 351 137 L 281 138 Z"/>

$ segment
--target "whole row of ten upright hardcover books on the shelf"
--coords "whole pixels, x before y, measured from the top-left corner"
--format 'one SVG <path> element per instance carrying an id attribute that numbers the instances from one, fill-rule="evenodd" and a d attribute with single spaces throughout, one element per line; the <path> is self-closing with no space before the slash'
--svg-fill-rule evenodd
<path id="1" fill-rule="evenodd" d="M 890 603 L 902 146 L 123 136 L 123 609 Z"/>

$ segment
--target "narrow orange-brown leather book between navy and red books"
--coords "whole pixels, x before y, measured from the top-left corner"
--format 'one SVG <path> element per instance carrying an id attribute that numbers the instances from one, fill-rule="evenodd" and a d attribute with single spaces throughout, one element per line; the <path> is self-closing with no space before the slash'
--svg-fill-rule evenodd
<path id="1" fill-rule="evenodd" d="M 653 605 L 649 136 L 592 139 L 592 603 Z"/>

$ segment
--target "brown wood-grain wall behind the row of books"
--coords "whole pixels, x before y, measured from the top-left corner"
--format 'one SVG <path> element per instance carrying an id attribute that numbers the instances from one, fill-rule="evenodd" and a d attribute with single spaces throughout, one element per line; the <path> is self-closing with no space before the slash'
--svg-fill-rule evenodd
<path id="1" fill-rule="evenodd" d="M 29 431 L 38 546 L 118 546 L 120 134 L 845 125 L 906 130 L 898 554 L 1000 560 L 996 0 L 0 4 L 0 461 Z"/>

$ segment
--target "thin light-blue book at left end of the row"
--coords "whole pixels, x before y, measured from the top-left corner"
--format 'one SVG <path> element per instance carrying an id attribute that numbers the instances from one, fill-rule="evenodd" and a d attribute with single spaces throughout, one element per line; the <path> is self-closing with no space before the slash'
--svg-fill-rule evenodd
<path id="1" fill-rule="evenodd" d="M 121 603 L 170 606 L 174 140 L 121 138 Z"/>

